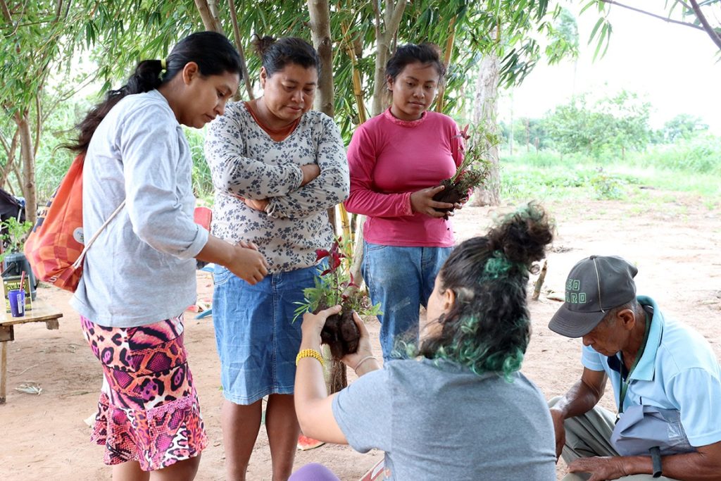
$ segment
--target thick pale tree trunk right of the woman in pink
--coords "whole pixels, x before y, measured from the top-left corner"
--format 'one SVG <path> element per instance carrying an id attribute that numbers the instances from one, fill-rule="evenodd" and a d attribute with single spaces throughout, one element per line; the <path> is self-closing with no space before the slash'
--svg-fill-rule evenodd
<path id="1" fill-rule="evenodd" d="M 496 133 L 498 112 L 498 57 L 489 54 L 480 63 L 476 84 L 473 123 L 485 125 L 488 133 Z M 513 129 L 513 124 L 510 127 Z M 487 184 L 474 190 L 472 206 L 497 206 L 500 203 L 500 172 L 498 169 L 498 146 L 487 146 L 490 176 Z"/>

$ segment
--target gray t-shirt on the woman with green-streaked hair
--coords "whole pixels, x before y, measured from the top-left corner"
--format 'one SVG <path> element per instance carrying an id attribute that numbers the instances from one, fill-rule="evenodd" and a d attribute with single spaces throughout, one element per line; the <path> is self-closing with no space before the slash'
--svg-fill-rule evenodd
<path id="1" fill-rule="evenodd" d="M 392 361 L 343 389 L 333 414 L 353 449 L 386 451 L 386 479 L 556 479 L 548 406 L 520 373 Z"/>

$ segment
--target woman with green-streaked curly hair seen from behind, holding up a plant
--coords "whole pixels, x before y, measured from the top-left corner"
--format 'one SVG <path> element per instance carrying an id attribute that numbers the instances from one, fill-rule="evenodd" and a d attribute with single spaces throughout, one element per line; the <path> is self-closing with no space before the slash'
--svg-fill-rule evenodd
<path id="1" fill-rule="evenodd" d="M 331 396 L 318 350 L 325 319 L 340 308 L 306 314 L 295 387 L 304 434 L 385 451 L 391 480 L 555 480 L 549 410 L 519 372 L 531 336 L 528 273 L 552 237 L 531 203 L 456 247 L 435 280 L 419 344 L 398 345 L 410 359 L 381 369 L 356 316 L 358 352 L 342 361 L 359 379 Z M 335 479 L 320 470 L 302 468 L 291 480 Z"/>

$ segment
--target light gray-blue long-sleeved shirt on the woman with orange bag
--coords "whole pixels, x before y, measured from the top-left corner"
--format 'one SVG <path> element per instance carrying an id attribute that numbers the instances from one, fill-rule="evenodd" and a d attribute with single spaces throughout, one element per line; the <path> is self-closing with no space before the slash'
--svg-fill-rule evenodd
<path id="1" fill-rule="evenodd" d="M 107 327 L 137 327 L 195 303 L 195 260 L 208 231 L 193 222 L 193 162 L 157 90 L 128 95 L 92 136 L 83 167 L 83 231 L 98 231 L 71 305 Z"/>

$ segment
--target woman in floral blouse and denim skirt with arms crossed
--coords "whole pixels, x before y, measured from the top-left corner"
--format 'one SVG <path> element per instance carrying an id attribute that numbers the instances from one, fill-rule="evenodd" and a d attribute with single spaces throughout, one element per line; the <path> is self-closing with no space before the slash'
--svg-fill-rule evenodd
<path id="1" fill-rule="evenodd" d="M 215 270 L 213 322 L 225 396 L 221 425 L 229 480 L 244 480 L 260 429 L 262 398 L 273 479 L 293 467 L 293 408 L 301 343 L 294 303 L 317 278 L 317 249 L 333 241 L 327 208 L 348 196 L 348 162 L 333 120 L 311 111 L 317 52 L 298 38 L 257 39 L 263 96 L 237 102 L 213 122 L 205 156 L 216 189 L 212 231 L 257 246 L 270 274 L 254 286 Z"/>

